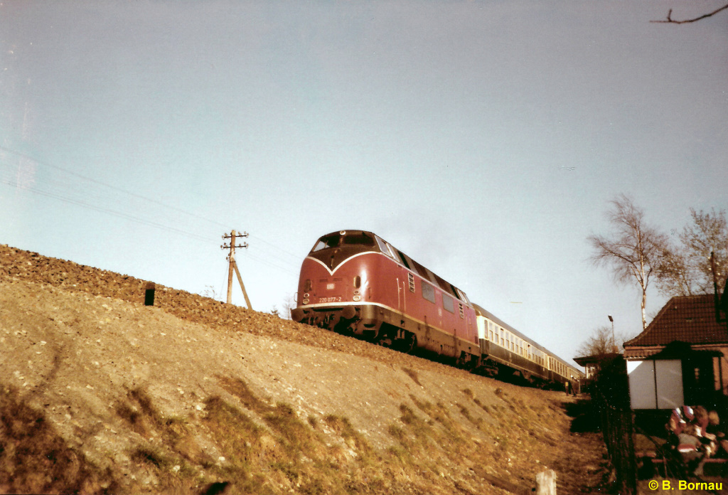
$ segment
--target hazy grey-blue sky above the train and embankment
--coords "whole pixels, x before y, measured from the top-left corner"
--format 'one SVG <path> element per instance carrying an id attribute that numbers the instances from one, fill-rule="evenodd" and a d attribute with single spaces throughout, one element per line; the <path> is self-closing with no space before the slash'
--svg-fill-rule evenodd
<path id="1" fill-rule="evenodd" d="M 728 209 L 728 13 L 650 22 L 722 4 L 0 0 L 0 243 L 224 300 L 247 232 L 270 312 L 373 231 L 569 359 L 642 330 L 609 200 Z"/>

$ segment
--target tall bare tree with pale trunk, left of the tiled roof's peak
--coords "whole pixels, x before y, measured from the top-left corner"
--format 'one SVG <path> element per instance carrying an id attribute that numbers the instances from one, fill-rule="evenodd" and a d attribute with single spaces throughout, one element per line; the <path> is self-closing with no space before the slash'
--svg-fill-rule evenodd
<path id="1" fill-rule="evenodd" d="M 595 250 L 591 261 L 596 266 L 609 266 L 617 282 L 636 282 L 642 293 L 642 329 L 647 326 L 645 306 L 647 287 L 660 266 L 668 238 L 644 221 L 644 211 L 633 199 L 620 194 L 610 201 L 607 212 L 614 232 L 609 236 L 590 235 L 587 239 Z"/>

